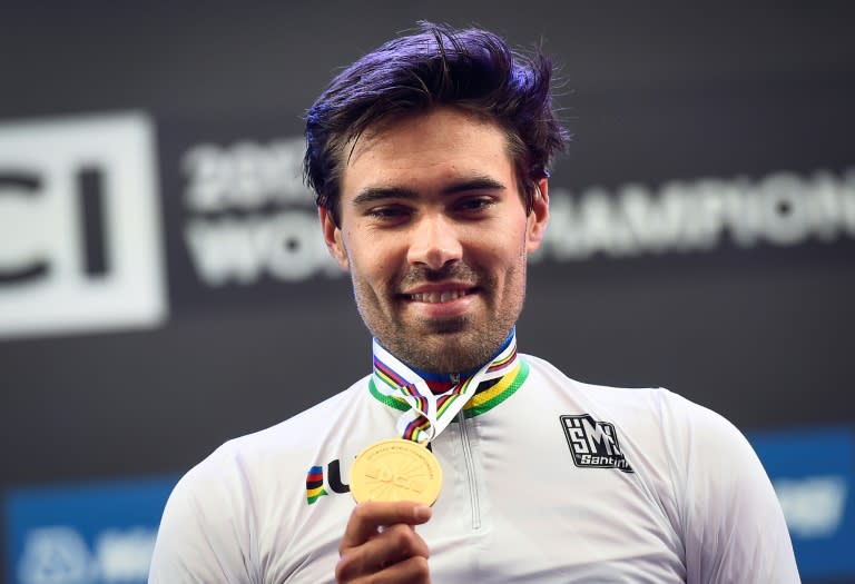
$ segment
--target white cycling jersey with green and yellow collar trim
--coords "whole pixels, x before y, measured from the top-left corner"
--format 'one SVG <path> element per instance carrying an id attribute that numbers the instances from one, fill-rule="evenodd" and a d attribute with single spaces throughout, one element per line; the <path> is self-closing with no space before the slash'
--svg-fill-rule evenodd
<path id="1" fill-rule="evenodd" d="M 334 582 L 350 464 L 394 437 L 406 408 L 381 386 L 375 367 L 193 468 L 167 503 L 150 582 Z M 747 441 L 668 390 L 587 385 L 520 355 L 432 449 L 444 481 L 416 529 L 435 583 L 799 582 Z"/>

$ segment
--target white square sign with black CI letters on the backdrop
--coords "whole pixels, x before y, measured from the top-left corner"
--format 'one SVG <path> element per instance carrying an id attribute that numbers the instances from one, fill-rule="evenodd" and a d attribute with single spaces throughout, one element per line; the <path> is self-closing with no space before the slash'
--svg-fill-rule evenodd
<path id="1" fill-rule="evenodd" d="M 0 123 L 0 337 L 165 316 L 151 120 Z"/>

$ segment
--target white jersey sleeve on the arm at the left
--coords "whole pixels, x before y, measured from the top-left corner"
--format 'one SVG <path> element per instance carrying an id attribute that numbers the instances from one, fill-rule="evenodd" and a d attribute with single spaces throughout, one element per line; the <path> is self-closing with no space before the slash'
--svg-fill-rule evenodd
<path id="1" fill-rule="evenodd" d="M 187 473 L 169 495 L 149 584 L 256 582 L 247 548 L 253 541 L 248 505 L 235 485 L 239 469 L 220 451 Z"/>

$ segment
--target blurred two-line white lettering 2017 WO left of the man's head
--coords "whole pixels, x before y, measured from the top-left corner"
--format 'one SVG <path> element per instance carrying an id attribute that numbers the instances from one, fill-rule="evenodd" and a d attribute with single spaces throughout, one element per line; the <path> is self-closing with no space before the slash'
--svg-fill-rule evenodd
<path id="1" fill-rule="evenodd" d="M 305 141 L 189 146 L 180 155 L 181 240 L 207 287 L 338 276 L 303 184 Z"/>

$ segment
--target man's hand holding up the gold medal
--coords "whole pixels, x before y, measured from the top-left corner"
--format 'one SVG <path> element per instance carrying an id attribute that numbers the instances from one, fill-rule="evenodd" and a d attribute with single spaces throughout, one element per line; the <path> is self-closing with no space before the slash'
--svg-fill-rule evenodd
<path id="1" fill-rule="evenodd" d="M 360 503 L 338 546 L 336 581 L 430 584 L 428 544 L 414 528 L 430 518 L 431 507 L 421 503 Z"/>

